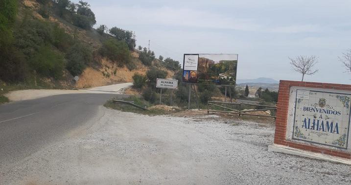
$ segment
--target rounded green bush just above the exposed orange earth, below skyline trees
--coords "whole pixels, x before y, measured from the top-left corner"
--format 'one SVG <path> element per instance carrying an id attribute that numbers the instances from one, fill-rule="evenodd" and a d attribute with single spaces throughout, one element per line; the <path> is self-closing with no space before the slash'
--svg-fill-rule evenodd
<path id="1" fill-rule="evenodd" d="M 127 44 L 116 39 L 109 39 L 103 42 L 100 53 L 102 56 L 122 64 L 129 63 L 131 58 Z"/>

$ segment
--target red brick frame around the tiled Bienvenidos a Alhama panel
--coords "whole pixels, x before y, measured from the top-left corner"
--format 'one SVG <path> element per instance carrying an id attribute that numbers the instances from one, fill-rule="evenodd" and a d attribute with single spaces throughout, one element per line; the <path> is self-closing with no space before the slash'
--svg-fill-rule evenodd
<path id="1" fill-rule="evenodd" d="M 287 141 L 285 139 L 288 107 L 289 107 L 289 91 L 290 91 L 290 87 L 292 86 L 351 91 L 351 85 L 281 80 L 279 83 L 279 94 L 278 94 L 277 114 L 276 114 L 277 119 L 276 119 L 276 131 L 274 135 L 274 143 L 289 146 L 292 148 L 303 149 L 311 152 L 318 152 L 322 154 L 328 154 L 328 155 L 337 156 L 341 158 L 351 159 L 350 153 Z"/>

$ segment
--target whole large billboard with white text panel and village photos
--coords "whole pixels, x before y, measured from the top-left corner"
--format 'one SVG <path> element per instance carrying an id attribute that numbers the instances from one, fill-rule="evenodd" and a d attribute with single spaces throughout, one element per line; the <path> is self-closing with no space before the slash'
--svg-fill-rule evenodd
<path id="1" fill-rule="evenodd" d="M 234 86 L 237 54 L 184 54 L 183 82 Z"/>

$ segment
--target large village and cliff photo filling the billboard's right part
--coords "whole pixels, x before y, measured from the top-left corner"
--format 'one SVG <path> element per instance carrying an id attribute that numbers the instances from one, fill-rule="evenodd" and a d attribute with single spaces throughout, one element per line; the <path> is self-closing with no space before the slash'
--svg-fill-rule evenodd
<path id="1" fill-rule="evenodd" d="M 234 86 L 237 54 L 199 54 L 197 83 Z"/>

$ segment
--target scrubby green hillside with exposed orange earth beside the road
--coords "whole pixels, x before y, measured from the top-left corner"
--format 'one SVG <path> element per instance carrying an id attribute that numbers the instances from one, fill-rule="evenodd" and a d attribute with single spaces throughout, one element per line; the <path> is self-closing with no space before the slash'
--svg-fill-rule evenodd
<path id="1" fill-rule="evenodd" d="M 155 62 L 172 77 L 179 70 L 155 59 L 146 48 L 135 49 L 133 31 L 118 26 L 96 29 L 95 14 L 80 0 L 0 1 L 0 88 L 72 88 L 131 82 Z M 9 87 L 12 88 L 9 88 Z M 3 94 L 2 92 L 2 94 Z"/>

